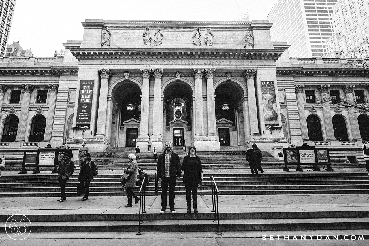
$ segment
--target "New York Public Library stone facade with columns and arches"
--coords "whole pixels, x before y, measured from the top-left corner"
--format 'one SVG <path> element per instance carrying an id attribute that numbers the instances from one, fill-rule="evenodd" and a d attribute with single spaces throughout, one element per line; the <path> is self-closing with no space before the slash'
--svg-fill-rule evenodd
<path id="1" fill-rule="evenodd" d="M 87 126 L 92 151 L 145 150 L 149 139 L 159 150 L 165 141 L 270 150 L 268 126 L 279 125 L 281 146 L 361 156 L 368 114 L 317 102 L 368 97 L 368 71 L 344 59 L 289 58 L 289 45 L 271 42 L 268 21 L 82 25 L 83 40 L 67 41 L 63 57 L 2 58 L 1 148 L 73 147 L 72 127 Z"/>

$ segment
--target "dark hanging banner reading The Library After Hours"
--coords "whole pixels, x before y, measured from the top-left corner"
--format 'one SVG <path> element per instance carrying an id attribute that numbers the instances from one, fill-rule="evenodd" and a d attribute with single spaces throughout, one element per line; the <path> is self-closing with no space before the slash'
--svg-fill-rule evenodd
<path id="1" fill-rule="evenodd" d="M 81 80 L 78 91 L 76 126 L 89 126 L 91 122 L 93 80 Z"/>

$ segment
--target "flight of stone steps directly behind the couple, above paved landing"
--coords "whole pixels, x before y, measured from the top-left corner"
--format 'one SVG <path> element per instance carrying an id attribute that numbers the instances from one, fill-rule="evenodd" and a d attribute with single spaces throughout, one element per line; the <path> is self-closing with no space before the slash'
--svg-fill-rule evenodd
<path id="1" fill-rule="evenodd" d="M 121 175 L 99 174 L 90 184 L 91 196 L 122 196 Z M 369 177 L 366 173 L 314 172 L 314 173 L 264 173 L 252 178 L 251 174 L 225 173 L 204 175 L 203 194 L 211 194 L 210 175 L 214 176 L 221 195 L 276 195 L 276 194 L 368 194 Z M 77 175 L 66 183 L 67 196 L 76 196 Z M 158 184 L 159 186 L 160 184 Z M 160 194 L 157 187 L 156 194 Z M 201 188 L 199 187 L 199 190 Z M 184 195 L 182 180 L 177 182 L 176 194 Z M 155 177 L 147 195 L 155 194 Z M 58 197 L 59 183 L 56 174 L 3 174 L 0 179 L 1 197 Z"/>

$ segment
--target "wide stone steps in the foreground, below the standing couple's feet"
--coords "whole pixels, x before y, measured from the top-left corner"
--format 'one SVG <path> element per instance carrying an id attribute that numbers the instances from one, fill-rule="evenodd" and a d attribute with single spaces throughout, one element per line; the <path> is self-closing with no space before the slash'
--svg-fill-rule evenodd
<path id="1" fill-rule="evenodd" d="M 138 210 L 138 209 L 137 209 Z M 181 209 L 182 210 L 182 209 Z M 214 213 L 199 209 L 199 214 L 158 214 L 148 209 L 142 215 L 142 232 L 217 231 Z M 184 210 L 184 209 L 183 209 Z M 75 210 L 25 210 L 32 221 L 32 232 L 137 232 L 138 214 L 126 214 L 122 209 L 90 209 L 90 213 Z M 0 215 L 5 222 L 10 215 Z M 220 231 L 297 231 L 369 229 L 368 211 L 345 209 L 332 212 L 220 212 Z M 5 228 L 1 227 L 4 233 Z"/>

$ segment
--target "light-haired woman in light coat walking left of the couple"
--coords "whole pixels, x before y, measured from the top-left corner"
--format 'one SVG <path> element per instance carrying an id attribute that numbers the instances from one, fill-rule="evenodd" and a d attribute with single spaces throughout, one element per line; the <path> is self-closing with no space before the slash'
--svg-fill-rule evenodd
<path id="1" fill-rule="evenodd" d="M 135 198 L 135 204 L 137 204 L 137 202 L 139 202 L 140 200 L 137 197 L 137 195 L 135 195 L 135 193 L 133 192 L 133 188 L 136 187 L 137 169 L 138 169 L 136 156 L 134 154 L 130 154 L 128 155 L 128 160 L 130 164 L 128 164 L 127 168 L 123 168 L 123 171 L 125 173 L 130 174 L 130 176 L 128 177 L 127 181 L 124 184 L 124 188 L 127 190 L 127 199 L 128 199 L 128 204 L 123 206 L 124 208 L 132 207 L 132 197 Z"/>

